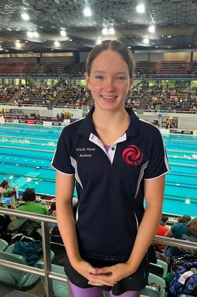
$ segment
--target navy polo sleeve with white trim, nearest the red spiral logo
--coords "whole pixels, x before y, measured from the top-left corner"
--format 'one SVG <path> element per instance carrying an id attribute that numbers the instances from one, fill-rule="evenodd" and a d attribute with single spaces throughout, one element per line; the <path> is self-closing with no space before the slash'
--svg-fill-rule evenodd
<path id="1" fill-rule="evenodd" d="M 155 128 L 157 129 L 157 128 Z M 144 171 L 144 179 L 158 178 L 170 171 L 166 149 L 163 144 L 161 133 L 157 129 L 153 134 L 154 140 L 150 151 L 148 165 Z"/>

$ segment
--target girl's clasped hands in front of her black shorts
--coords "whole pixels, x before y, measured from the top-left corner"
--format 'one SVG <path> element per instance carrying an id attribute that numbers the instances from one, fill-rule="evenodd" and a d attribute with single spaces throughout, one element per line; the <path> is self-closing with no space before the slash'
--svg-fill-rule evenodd
<path id="1" fill-rule="evenodd" d="M 71 263 L 73 268 L 88 279 L 88 284 L 93 286 L 108 285 L 113 287 L 122 278 L 125 278 L 133 272 L 131 263 L 118 263 L 116 265 L 104 268 L 94 268 L 90 263 L 83 259 Z"/>

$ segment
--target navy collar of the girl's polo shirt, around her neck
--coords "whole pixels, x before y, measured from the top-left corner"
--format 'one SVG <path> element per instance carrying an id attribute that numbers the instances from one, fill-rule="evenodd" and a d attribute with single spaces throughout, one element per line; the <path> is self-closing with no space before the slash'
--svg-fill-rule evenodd
<path id="1" fill-rule="evenodd" d="M 137 135 L 139 128 L 140 128 L 140 119 L 135 115 L 135 112 L 131 108 L 125 108 L 130 116 L 130 123 L 127 129 L 127 136 L 134 136 Z M 92 121 L 92 113 L 94 112 L 94 107 L 90 109 L 88 115 L 81 121 L 81 125 L 79 128 L 79 134 L 84 136 L 90 136 L 90 133 L 98 136 L 96 129 L 94 128 L 94 124 Z"/>

